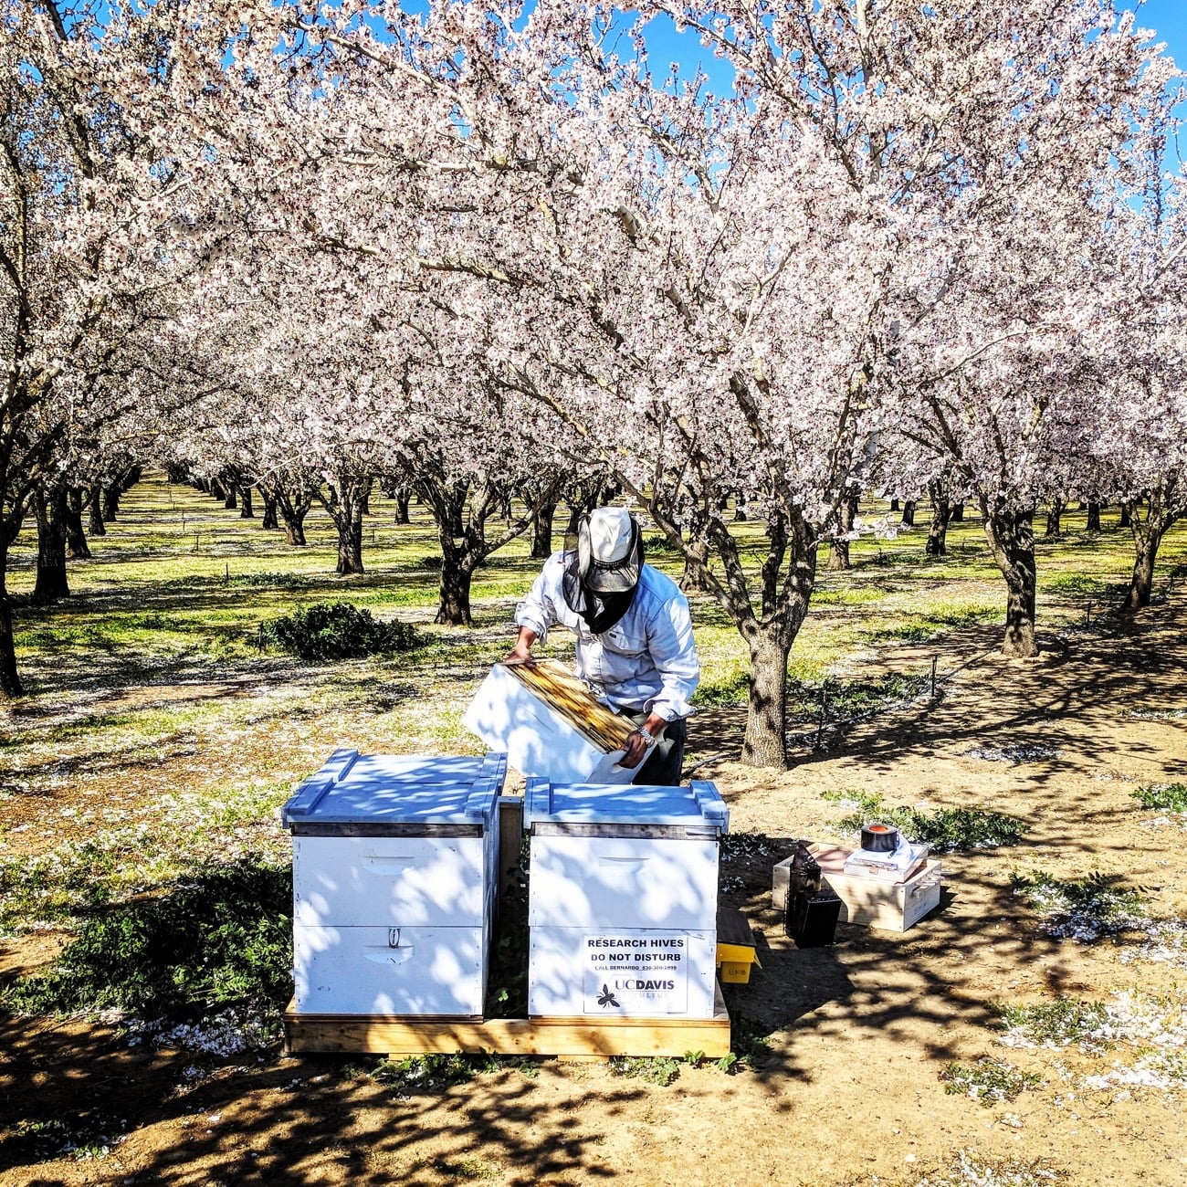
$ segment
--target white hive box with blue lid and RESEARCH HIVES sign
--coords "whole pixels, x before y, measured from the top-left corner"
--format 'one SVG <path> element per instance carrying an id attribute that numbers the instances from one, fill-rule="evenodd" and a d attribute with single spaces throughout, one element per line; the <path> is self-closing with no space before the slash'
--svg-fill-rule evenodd
<path id="1" fill-rule="evenodd" d="M 528 1014 L 711 1018 L 717 788 L 532 780 L 523 821 Z"/>

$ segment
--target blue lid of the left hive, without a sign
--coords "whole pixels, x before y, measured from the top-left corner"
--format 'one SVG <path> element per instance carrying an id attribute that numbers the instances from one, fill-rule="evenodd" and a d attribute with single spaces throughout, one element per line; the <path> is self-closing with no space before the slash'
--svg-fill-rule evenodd
<path id="1" fill-rule="evenodd" d="M 487 824 L 507 770 L 504 755 L 434 758 L 335 750 L 281 810 L 294 824 Z"/>

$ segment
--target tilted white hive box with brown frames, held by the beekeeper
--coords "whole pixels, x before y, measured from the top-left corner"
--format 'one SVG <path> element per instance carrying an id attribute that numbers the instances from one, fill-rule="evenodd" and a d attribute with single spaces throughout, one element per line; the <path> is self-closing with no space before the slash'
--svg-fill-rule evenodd
<path id="1" fill-rule="evenodd" d="M 529 777 L 629 783 L 637 769 L 617 764 L 633 723 L 553 660 L 496 664 L 462 723 Z"/>

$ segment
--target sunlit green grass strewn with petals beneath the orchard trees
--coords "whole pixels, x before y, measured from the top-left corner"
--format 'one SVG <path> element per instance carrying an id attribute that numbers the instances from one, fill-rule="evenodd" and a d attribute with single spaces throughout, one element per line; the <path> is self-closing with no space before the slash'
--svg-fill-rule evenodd
<path id="1" fill-rule="evenodd" d="M 427 509 L 414 504 L 412 523 L 396 526 L 394 503 L 376 494 L 370 510 L 367 572 L 339 578 L 336 533 L 320 508 L 306 520 L 309 546 L 293 548 L 259 519 L 150 478 L 90 541 L 94 558 L 71 561 L 72 596 L 51 607 L 28 604 L 36 534 L 18 537 L 8 588 L 30 694 L 0 715 L 0 927 L 80 926 L 207 862 L 283 861 L 288 838 L 278 806 L 343 742 L 373 753 L 482 751 L 461 717 L 510 647 L 514 605 L 539 571 L 529 541 L 513 541 L 478 572 L 474 630 L 439 627 L 439 550 Z M 890 713 L 929 690 L 925 672 L 833 675 L 870 637 L 999 617 L 1001 578 L 976 518 L 953 525 L 948 554 L 932 561 L 923 558 L 925 513 L 920 521 L 894 540 L 855 541 L 849 571 L 820 565 L 788 665 L 793 730 Z M 1106 525 L 1088 551 L 1074 535 L 1077 513 L 1067 525 L 1066 546 L 1045 545 L 1040 558 L 1041 627 L 1078 623 L 1083 611 L 1066 605 L 1066 594 L 1084 580 L 1122 579 L 1131 564 L 1126 533 Z M 736 529 L 753 578 L 769 541 L 761 523 Z M 1185 559 L 1181 526 L 1163 544 L 1160 573 Z M 671 550 L 654 548 L 650 560 L 681 576 Z M 421 646 L 317 667 L 260 649 L 261 622 L 336 601 L 413 624 Z M 743 640 L 711 598 L 693 594 L 691 603 L 698 705 L 706 713 L 743 705 Z M 937 641 L 937 652 L 942 647 Z M 560 631 L 540 648 L 560 658 L 571 649 Z M 967 842 L 972 825 L 948 820 L 941 832 Z"/>

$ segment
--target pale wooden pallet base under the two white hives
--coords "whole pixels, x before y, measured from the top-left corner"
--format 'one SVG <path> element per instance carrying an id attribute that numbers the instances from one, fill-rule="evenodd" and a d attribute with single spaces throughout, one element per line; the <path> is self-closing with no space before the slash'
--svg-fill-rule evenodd
<path id="1" fill-rule="evenodd" d="M 285 1011 L 291 1055 L 366 1052 L 381 1055 L 493 1054 L 605 1059 L 684 1055 L 721 1059 L 730 1049 L 730 1016 L 721 986 L 712 1018 L 417 1018 L 394 1015 Z"/>

